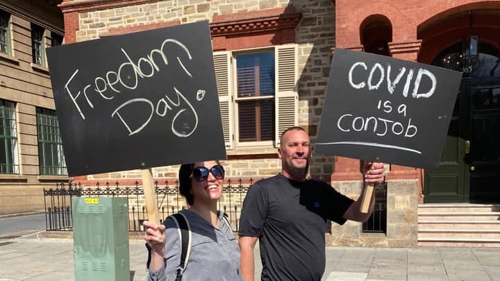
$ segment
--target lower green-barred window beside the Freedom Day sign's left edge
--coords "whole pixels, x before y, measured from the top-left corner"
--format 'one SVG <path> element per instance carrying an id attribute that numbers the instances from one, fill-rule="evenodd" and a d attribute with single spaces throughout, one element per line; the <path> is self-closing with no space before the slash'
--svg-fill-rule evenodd
<path id="1" fill-rule="evenodd" d="M 40 175 L 66 176 L 66 161 L 56 112 L 37 108 L 37 128 Z"/>

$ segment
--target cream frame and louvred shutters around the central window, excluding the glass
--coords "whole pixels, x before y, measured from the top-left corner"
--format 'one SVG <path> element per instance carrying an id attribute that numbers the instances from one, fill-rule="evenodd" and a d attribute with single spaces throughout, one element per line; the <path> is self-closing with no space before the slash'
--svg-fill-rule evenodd
<path id="1" fill-rule="evenodd" d="M 299 119 L 299 93 L 297 91 L 298 44 L 281 44 L 259 48 L 238 49 L 231 51 L 215 51 L 213 53 L 217 93 L 224 130 L 224 144 L 230 155 L 275 153 L 280 146 L 283 130 L 297 126 Z M 274 139 L 268 144 L 258 142 L 238 142 L 235 138 L 238 119 L 235 118 L 234 96 L 235 84 L 234 53 L 273 49 L 275 52 L 275 91 L 274 91 Z M 267 142 L 267 141 L 266 141 Z"/>

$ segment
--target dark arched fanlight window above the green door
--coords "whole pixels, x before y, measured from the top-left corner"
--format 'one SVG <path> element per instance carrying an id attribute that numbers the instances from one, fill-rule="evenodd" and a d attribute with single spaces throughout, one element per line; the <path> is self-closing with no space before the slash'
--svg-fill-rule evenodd
<path id="1" fill-rule="evenodd" d="M 459 42 L 449 46 L 437 55 L 432 65 L 462 71 L 464 77 L 500 76 L 500 51 L 490 44 L 478 42 L 477 52 L 471 52 L 467 47 L 470 45 Z"/>

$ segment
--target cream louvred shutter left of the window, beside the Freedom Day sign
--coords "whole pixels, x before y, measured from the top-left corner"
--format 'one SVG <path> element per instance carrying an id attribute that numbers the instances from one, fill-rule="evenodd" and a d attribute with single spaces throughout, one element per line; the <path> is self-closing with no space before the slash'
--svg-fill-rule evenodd
<path id="1" fill-rule="evenodd" d="M 233 101 L 231 94 L 231 53 L 227 51 L 214 52 L 215 78 L 221 110 L 222 130 L 226 149 L 234 147 L 233 133 Z"/>

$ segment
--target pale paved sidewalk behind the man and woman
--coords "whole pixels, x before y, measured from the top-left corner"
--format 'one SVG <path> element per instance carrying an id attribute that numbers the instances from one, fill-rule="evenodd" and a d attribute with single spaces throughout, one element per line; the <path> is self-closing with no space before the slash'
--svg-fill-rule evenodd
<path id="1" fill-rule="evenodd" d="M 35 237 L 0 238 L 0 281 L 74 280 L 72 239 Z M 129 246 L 131 281 L 144 281 L 144 242 Z M 328 247 L 323 281 L 334 280 L 500 281 L 500 249 Z"/>

